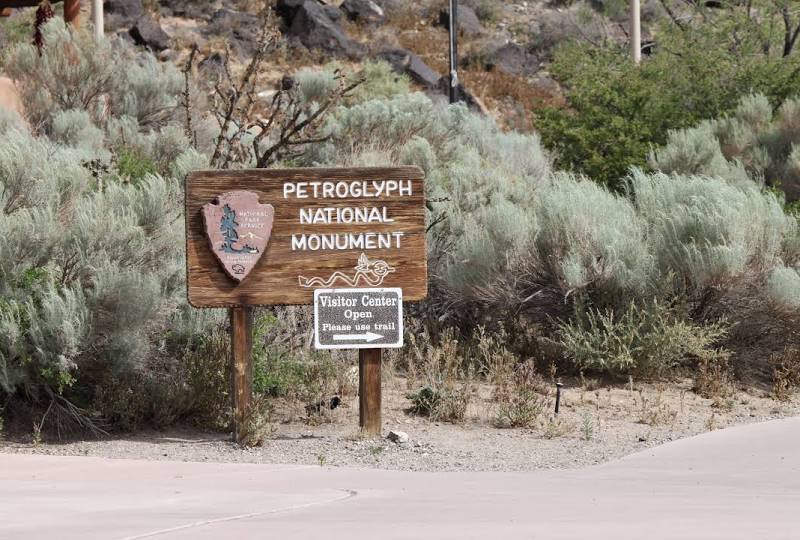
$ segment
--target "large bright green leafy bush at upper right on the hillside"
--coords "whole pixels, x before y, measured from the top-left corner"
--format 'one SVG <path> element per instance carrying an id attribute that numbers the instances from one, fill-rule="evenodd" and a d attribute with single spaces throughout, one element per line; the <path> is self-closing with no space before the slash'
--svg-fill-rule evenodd
<path id="1" fill-rule="evenodd" d="M 639 66 L 616 45 L 559 49 L 551 71 L 567 106 L 540 111 L 536 124 L 557 165 L 622 187 L 628 169 L 646 167 L 671 130 L 732 111 L 753 92 L 773 105 L 794 93 L 800 57 L 769 49 L 767 33 L 777 26 L 743 24 L 740 9 L 709 11 L 707 24 L 666 25 Z"/>

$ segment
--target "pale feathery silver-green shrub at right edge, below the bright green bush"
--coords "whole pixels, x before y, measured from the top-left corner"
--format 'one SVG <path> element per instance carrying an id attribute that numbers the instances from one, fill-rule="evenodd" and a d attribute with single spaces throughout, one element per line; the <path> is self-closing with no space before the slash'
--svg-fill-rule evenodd
<path id="1" fill-rule="evenodd" d="M 644 220 L 655 269 L 693 290 L 763 276 L 783 259 L 797 222 L 754 184 L 633 171 L 630 189 Z"/>

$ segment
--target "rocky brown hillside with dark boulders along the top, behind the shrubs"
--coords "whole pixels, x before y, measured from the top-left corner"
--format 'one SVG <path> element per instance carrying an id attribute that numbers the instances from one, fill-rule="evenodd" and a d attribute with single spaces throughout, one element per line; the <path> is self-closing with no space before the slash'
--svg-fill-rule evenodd
<path id="1" fill-rule="evenodd" d="M 355 67 L 382 59 L 429 95 L 445 99 L 448 2 L 268 3 L 271 17 L 266 24 L 279 29 L 284 47 L 268 59 L 265 85 L 301 66 L 338 61 Z M 645 22 L 659 16 L 656 4 L 645 5 Z M 106 0 L 106 31 L 178 64 L 194 45 L 206 67 L 219 65 L 229 49 L 236 69 L 255 50 L 265 24 L 262 7 L 259 0 Z M 32 21 L 33 11 L 15 10 L 0 26 L 0 43 L 9 41 L 13 21 Z M 458 14 L 462 98 L 471 108 L 521 130 L 533 127 L 532 111 L 537 107 L 561 101 L 558 84 L 547 71 L 557 44 L 568 39 L 626 39 L 624 5 L 607 0 L 462 0 Z"/>

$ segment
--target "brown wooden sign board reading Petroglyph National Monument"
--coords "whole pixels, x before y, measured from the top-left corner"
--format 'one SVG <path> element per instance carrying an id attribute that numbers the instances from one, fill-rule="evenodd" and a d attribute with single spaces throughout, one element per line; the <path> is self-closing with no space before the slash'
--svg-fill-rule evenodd
<path id="1" fill-rule="evenodd" d="M 238 216 L 233 203 L 219 209 L 238 200 L 250 201 Z M 424 202 L 416 167 L 194 172 L 186 180 L 189 302 L 310 304 L 314 289 L 337 287 L 400 287 L 405 300 L 421 300 L 427 294 Z M 247 230 L 248 244 L 231 223 L 241 231 L 250 220 L 264 229 L 258 220 L 265 214 L 256 210 L 269 207 L 268 242 L 258 251 L 259 229 Z M 243 278 L 232 270 L 237 261 L 247 270 Z"/>

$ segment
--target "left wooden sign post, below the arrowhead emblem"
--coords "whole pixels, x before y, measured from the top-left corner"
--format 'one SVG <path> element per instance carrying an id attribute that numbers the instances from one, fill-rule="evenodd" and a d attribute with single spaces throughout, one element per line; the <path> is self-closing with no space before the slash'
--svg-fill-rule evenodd
<path id="1" fill-rule="evenodd" d="M 241 442 L 244 425 L 250 413 L 253 394 L 253 308 L 234 307 L 230 310 L 231 322 L 231 378 L 233 389 L 233 437 Z"/>

